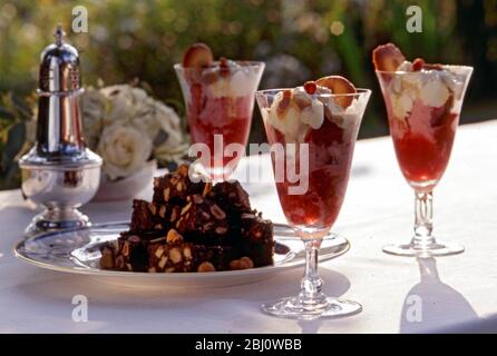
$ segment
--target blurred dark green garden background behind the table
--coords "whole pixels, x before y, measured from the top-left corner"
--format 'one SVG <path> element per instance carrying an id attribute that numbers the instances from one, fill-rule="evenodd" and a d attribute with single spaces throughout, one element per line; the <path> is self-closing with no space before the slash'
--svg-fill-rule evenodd
<path id="1" fill-rule="evenodd" d="M 406 30 L 412 4 L 423 11 L 421 33 Z M 70 31 L 75 6 L 88 9 L 88 33 Z M 370 58 L 393 41 L 411 59 L 474 66 L 461 121 L 497 118 L 497 0 L 0 0 L 0 189 L 19 185 L 40 51 L 57 23 L 81 52 L 86 86 L 139 82 L 182 117 L 173 63 L 203 41 L 216 57 L 265 61 L 262 88 L 331 73 L 372 88 L 360 136 L 387 135 Z M 251 141 L 263 141 L 254 112 Z"/>

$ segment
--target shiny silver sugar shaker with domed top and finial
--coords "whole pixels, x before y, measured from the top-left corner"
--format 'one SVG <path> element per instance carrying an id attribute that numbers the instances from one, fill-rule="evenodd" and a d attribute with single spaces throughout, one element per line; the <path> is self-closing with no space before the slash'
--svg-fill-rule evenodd
<path id="1" fill-rule="evenodd" d="M 101 158 L 86 148 L 79 96 L 79 55 L 65 43 L 62 28 L 41 53 L 37 142 L 23 156 L 22 194 L 45 210 L 26 229 L 27 236 L 81 227 L 88 217 L 77 210 L 98 189 Z"/>

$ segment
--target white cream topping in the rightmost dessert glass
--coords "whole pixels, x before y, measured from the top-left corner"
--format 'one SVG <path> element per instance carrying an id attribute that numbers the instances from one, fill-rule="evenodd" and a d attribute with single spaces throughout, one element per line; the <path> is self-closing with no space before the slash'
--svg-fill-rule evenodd
<path id="1" fill-rule="evenodd" d="M 440 108 L 450 97 L 460 98 L 464 90 L 464 78 L 448 66 L 442 70 L 422 69 L 412 71 L 412 63 L 405 61 L 399 66 L 399 73 L 388 87 L 392 111 L 396 118 L 403 120 L 412 110 L 417 100 L 432 108 Z"/>

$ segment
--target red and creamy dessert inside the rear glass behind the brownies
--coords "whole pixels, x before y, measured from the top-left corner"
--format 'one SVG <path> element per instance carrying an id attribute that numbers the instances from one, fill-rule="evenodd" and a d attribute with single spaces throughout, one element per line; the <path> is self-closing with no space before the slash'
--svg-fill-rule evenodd
<path id="1" fill-rule="evenodd" d="M 208 146 L 215 167 L 214 138 L 223 146 L 246 145 L 252 122 L 254 92 L 262 67 L 251 62 L 223 60 L 207 68 L 183 69 L 181 83 L 186 99 L 188 127 L 194 142 Z M 223 157 L 223 167 L 233 158 Z M 235 158 L 236 160 L 240 157 Z"/>

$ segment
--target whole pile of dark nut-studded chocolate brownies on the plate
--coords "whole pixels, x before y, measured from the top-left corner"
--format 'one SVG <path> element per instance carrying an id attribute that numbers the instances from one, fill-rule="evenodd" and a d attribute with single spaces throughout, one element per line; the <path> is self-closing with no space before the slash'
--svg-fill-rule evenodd
<path id="1" fill-rule="evenodd" d="M 198 178 L 198 177 L 197 177 Z M 100 267 L 191 273 L 273 264 L 273 225 L 240 182 L 191 179 L 189 167 L 154 179 L 153 201 L 133 201 L 129 231 L 101 247 Z"/>

